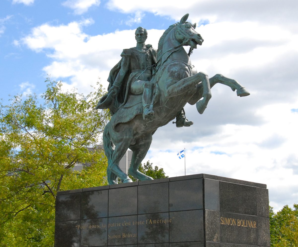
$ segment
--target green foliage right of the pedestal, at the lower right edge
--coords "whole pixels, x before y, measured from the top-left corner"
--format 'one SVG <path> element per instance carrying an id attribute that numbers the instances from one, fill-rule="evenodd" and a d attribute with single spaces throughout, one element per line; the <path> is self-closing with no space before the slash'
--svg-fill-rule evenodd
<path id="1" fill-rule="evenodd" d="M 298 204 L 285 205 L 276 214 L 269 211 L 271 247 L 298 247 Z"/>

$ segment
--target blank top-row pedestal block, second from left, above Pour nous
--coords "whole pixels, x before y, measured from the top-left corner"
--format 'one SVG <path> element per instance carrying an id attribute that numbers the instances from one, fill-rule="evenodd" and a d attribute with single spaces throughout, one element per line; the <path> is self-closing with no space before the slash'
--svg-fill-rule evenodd
<path id="1" fill-rule="evenodd" d="M 108 217 L 108 190 L 82 193 L 81 219 Z"/>

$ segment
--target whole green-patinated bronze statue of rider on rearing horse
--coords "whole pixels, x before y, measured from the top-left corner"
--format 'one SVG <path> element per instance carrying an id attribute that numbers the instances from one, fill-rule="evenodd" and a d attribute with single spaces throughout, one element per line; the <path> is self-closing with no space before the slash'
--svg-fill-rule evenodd
<path id="1" fill-rule="evenodd" d="M 183 112 L 184 105 L 196 104 L 202 114 L 211 98 L 210 88 L 216 83 L 237 90 L 240 97 L 249 95 L 233 79 L 220 74 L 209 79 L 204 72 L 197 73 L 190 62 L 190 53 L 187 54 L 182 47 L 190 46 L 192 50 L 204 40 L 195 31 L 196 24 L 187 22 L 187 18 L 188 14 L 164 32 L 159 39 L 157 56 L 150 45 L 146 47 L 144 44 L 147 38 L 145 29 L 138 28 L 137 47 L 123 50 L 121 61 L 111 70 L 108 94 L 97 105 L 97 109 L 109 108 L 112 114 L 103 132 L 109 184 L 116 184 L 117 177 L 122 183 L 132 182 L 119 167 L 119 161 L 128 148 L 133 152 L 129 174 L 139 180 L 152 179 L 138 170 L 149 150 L 152 135 L 175 116 L 184 119 L 180 126 L 189 126 Z M 137 65 L 132 62 L 134 56 Z"/>

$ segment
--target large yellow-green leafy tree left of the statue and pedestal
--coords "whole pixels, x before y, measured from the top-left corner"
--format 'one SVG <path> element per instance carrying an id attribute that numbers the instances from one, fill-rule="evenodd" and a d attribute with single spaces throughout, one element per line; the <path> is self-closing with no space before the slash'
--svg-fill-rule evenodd
<path id="1" fill-rule="evenodd" d="M 102 88 L 85 97 L 46 82 L 42 104 L 36 95 L 0 104 L 2 247 L 53 246 L 57 192 L 107 184 L 106 158 L 95 149 L 110 117 L 95 110 Z M 75 171 L 78 163 L 85 168 Z"/>

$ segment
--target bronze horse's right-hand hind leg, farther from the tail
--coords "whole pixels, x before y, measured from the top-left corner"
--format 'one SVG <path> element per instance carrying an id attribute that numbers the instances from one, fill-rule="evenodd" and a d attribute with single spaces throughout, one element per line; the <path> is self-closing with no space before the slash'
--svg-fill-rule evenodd
<path id="1" fill-rule="evenodd" d="M 144 138 L 146 140 L 146 138 Z M 139 179 L 140 181 L 144 180 L 152 180 L 152 177 L 149 177 L 142 172 L 138 170 L 139 165 L 141 164 L 142 160 L 145 158 L 150 144 L 152 142 L 152 135 L 148 138 L 148 140 L 142 142 L 142 143 L 136 143 L 133 146 L 130 146 L 130 149 L 132 150 L 132 157 L 131 157 L 131 165 L 128 169 L 128 173 Z"/>

